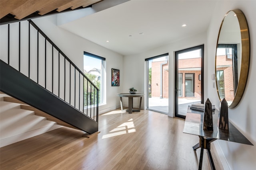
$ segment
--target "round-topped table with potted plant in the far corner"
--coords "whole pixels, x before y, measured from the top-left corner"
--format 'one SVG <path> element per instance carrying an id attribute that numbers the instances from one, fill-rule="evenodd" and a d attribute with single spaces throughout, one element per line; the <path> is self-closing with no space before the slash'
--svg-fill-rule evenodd
<path id="1" fill-rule="evenodd" d="M 121 105 L 121 110 L 122 111 L 128 111 L 128 113 L 132 113 L 133 111 L 140 111 L 141 107 L 141 100 L 144 94 L 141 93 L 136 93 L 136 94 L 130 94 L 130 93 L 119 93 L 117 96 L 120 97 L 120 105 Z M 127 97 L 128 98 L 128 110 L 123 109 L 123 102 L 122 102 L 122 97 Z M 133 98 L 139 98 L 140 97 L 140 106 L 139 109 L 133 109 Z"/>

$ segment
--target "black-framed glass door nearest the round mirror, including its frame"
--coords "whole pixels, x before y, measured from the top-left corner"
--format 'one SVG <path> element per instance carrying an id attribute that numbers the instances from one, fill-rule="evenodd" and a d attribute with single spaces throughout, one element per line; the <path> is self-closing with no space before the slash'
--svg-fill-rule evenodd
<path id="1" fill-rule="evenodd" d="M 204 103 L 204 45 L 175 52 L 175 116 L 185 118 L 191 104 Z"/>

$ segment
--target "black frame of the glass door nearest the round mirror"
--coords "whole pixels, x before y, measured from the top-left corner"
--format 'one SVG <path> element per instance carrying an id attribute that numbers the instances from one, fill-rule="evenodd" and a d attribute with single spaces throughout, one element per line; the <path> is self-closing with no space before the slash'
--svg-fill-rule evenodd
<path id="1" fill-rule="evenodd" d="M 198 45 L 196 47 L 191 47 L 188 49 L 183 49 L 180 51 L 175 51 L 175 70 L 174 70 L 174 94 L 175 94 L 175 99 L 174 99 L 174 107 L 175 107 L 175 117 L 180 117 L 182 119 L 185 119 L 186 116 L 184 115 L 179 115 L 178 114 L 178 55 L 180 53 L 186 53 L 189 51 L 194 51 L 197 49 L 201 49 L 201 103 L 204 103 L 204 45 Z"/>

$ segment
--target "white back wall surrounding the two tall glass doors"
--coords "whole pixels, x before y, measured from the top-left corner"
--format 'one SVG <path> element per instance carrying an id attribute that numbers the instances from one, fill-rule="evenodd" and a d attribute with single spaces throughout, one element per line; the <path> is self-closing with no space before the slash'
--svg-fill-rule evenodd
<path id="1" fill-rule="evenodd" d="M 189 47 L 195 47 L 202 44 L 206 46 L 206 33 L 202 33 L 200 35 L 193 35 L 184 40 L 181 40 L 175 43 L 170 43 L 168 45 L 155 48 L 150 51 L 146 51 L 144 53 L 125 56 L 124 57 L 124 77 L 126 78 L 125 79 L 126 82 L 124 83 L 124 86 L 123 86 L 123 92 L 128 92 L 128 89 L 130 87 L 134 87 L 138 90 L 138 92 L 146 94 L 147 79 L 146 77 L 144 77 L 144 75 L 146 75 L 147 70 L 146 70 L 145 59 L 154 57 L 157 55 L 169 53 L 169 113 L 168 115 L 170 117 L 174 117 L 174 66 L 175 66 L 174 52 L 182 49 L 186 49 Z M 205 62 L 207 61 L 206 52 L 207 52 L 207 49 L 206 47 L 204 47 Z M 207 75 L 206 70 L 204 74 Z M 205 81 L 205 84 L 207 84 L 207 81 Z M 207 91 L 204 90 L 205 96 L 207 96 L 206 92 Z M 136 106 L 136 103 L 138 102 L 134 102 L 134 106 Z M 128 106 L 128 100 L 127 101 L 124 100 L 124 105 Z M 142 101 L 142 109 L 146 109 L 146 108 L 147 106 L 146 106 L 146 96 L 145 96 L 144 100 Z"/>

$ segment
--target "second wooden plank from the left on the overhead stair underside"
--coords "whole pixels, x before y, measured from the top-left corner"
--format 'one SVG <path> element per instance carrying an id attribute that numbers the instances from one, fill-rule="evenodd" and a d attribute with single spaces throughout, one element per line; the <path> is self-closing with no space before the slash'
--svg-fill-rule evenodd
<path id="1" fill-rule="evenodd" d="M 15 15 L 14 18 L 21 20 L 51 3 L 52 0 L 28 0 L 10 13 Z"/>

